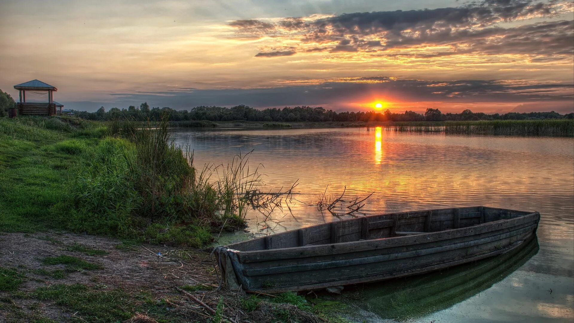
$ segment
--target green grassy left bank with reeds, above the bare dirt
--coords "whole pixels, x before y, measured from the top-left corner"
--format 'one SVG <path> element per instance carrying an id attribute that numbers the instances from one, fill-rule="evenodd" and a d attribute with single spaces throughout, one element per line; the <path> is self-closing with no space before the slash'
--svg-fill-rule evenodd
<path id="1" fill-rule="evenodd" d="M 210 180 L 214 174 L 197 173 L 167 129 L 167 122 L 0 119 L 0 228 L 201 247 L 212 231 L 244 225 L 242 193 L 258 175 L 238 157 Z"/>

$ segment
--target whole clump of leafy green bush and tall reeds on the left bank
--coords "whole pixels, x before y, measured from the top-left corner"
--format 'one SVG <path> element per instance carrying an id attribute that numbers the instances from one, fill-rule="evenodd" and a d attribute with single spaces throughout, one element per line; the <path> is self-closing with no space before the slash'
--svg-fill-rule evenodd
<path id="1" fill-rule="evenodd" d="M 189 149 L 169 138 L 169 122 L 113 121 L 85 152 L 88 170 L 74 182 L 72 229 L 199 247 L 210 230 L 245 225 L 261 174 L 246 155 L 198 172 Z"/>

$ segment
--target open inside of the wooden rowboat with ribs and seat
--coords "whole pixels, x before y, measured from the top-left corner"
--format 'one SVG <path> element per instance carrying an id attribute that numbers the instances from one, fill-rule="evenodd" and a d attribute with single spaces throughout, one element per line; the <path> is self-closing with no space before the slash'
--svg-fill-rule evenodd
<path id="1" fill-rule="evenodd" d="M 389 213 L 290 230 L 231 244 L 228 247 L 237 251 L 257 251 L 383 239 L 466 228 L 530 213 L 486 206 Z"/>

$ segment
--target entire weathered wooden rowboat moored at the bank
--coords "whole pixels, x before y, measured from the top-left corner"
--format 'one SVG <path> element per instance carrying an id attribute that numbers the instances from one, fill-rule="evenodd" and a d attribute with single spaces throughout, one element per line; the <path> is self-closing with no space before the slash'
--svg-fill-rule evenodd
<path id="1" fill-rule="evenodd" d="M 218 247 L 226 285 L 282 293 L 423 274 L 521 248 L 540 213 L 473 206 L 390 213 Z"/>

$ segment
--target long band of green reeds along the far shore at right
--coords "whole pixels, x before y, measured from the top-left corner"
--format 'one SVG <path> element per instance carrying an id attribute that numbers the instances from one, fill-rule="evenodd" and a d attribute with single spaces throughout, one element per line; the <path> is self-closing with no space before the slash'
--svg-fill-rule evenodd
<path id="1" fill-rule="evenodd" d="M 396 132 L 444 132 L 444 133 L 486 133 L 486 134 L 530 134 L 542 136 L 571 136 L 574 134 L 574 120 L 492 120 L 492 121 L 447 121 L 397 122 L 387 128 Z"/>

